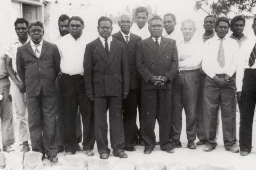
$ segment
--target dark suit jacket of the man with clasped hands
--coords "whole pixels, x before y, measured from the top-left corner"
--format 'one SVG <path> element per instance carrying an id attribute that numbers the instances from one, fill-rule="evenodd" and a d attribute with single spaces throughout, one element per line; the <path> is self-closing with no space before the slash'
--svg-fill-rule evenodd
<path id="1" fill-rule="evenodd" d="M 178 52 L 175 40 L 162 37 L 158 48 L 151 37 L 140 41 L 136 61 L 142 78 L 143 90 L 172 89 L 172 80 L 178 70 Z M 165 75 L 169 80 L 162 87 L 156 87 L 150 81 L 153 75 Z"/>

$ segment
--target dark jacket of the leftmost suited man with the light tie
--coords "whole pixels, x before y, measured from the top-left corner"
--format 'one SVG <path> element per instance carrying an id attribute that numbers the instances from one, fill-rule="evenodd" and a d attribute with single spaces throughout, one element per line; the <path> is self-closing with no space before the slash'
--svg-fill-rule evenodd
<path id="1" fill-rule="evenodd" d="M 28 97 L 55 96 L 55 79 L 60 71 L 60 54 L 57 46 L 43 40 L 41 55 L 36 57 L 30 41 L 17 49 L 17 72 L 26 84 Z"/>

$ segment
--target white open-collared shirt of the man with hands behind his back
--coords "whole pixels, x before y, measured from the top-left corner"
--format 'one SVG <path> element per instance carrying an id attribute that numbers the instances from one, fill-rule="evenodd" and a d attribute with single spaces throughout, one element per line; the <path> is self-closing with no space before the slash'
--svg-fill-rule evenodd
<path id="1" fill-rule="evenodd" d="M 60 52 L 60 70 L 62 73 L 84 74 L 84 52 L 86 39 L 82 35 L 77 40 L 69 34 L 60 38 L 57 46 Z"/>

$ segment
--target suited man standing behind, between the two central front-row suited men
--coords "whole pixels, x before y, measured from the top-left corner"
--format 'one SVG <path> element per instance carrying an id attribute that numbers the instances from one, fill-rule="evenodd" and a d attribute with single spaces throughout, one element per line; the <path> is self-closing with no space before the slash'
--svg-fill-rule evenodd
<path id="1" fill-rule="evenodd" d="M 118 25 L 121 31 L 113 34 L 113 38 L 124 43 L 129 61 L 130 70 L 130 92 L 125 100 L 123 100 L 123 121 L 124 121 L 124 150 L 134 151 L 134 139 L 137 138 L 137 107 L 140 102 L 140 74 L 136 68 L 136 44 L 141 37 L 130 32 L 132 26 L 132 16 L 129 13 L 123 13 L 119 17 Z M 137 139 L 138 140 L 138 139 Z"/>

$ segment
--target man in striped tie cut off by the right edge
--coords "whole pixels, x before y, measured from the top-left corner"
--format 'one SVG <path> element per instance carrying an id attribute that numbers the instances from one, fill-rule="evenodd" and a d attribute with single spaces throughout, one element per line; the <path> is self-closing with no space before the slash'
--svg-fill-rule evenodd
<path id="1" fill-rule="evenodd" d="M 240 111 L 239 147 L 242 156 L 248 155 L 252 150 L 252 124 L 256 103 L 255 43 L 255 38 L 250 38 L 241 45 L 236 70 L 237 101 Z"/>

